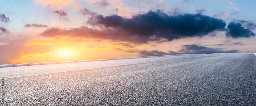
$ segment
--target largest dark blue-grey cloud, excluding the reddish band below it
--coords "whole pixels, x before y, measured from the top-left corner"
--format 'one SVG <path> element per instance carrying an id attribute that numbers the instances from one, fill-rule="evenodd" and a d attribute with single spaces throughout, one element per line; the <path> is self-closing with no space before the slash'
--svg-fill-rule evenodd
<path id="1" fill-rule="evenodd" d="M 105 28 L 118 28 L 123 21 L 123 26 L 130 36 L 150 37 L 155 30 L 159 30 L 159 38 L 169 41 L 174 39 L 205 36 L 209 32 L 224 29 L 226 23 L 222 19 L 212 18 L 201 14 L 184 14 L 170 17 L 162 10 L 148 11 L 145 14 L 137 14 L 132 18 L 123 18 L 119 15 L 103 16 L 95 15 L 87 23 L 93 26 L 104 26 Z M 208 27 L 208 28 L 207 28 Z"/>

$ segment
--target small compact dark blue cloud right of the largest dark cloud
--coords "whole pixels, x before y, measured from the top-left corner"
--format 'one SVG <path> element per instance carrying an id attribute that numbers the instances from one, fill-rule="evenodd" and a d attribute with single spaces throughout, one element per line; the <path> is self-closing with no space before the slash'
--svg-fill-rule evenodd
<path id="1" fill-rule="evenodd" d="M 252 36 L 255 36 L 255 33 L 250 31 L 249 28 L 244 29 L 241 23 L 230 22 L 228 24 L 228 31 L 226 32 L 226 36 L 232 37 L 232 38 L 239 38 L 239 37 L 250 38 Z"/>

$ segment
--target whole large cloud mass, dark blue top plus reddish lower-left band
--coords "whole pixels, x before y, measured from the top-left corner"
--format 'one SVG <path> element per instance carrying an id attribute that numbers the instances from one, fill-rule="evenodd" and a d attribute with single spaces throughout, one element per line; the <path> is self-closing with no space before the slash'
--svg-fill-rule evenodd
<path id="1" fill-rule="evenodd" d="M 202 14 L 183 14 L 169 16 L 162 10 L 148 11 L 124 18 L 119 15 L 103 16 L 86 8 L 79 11 L 82 15 L 90 15 L 86 22 L 93 27 L 74 28 L 77 31 L 72 36 L 110 39 L 113 42 L 128 42 L 143 44 L 149 41 L 172 41 L 186 37 L 203 37 L 218 30 L 224 30 L 226 23 L 222 19 L 212 18 Z M 70 30 L 70 29 L 69 29 Z M 61 36 L 68 29 L 47 29 L 41 36 Z M 110 36 L 113 35 L 113 36 Z"/>

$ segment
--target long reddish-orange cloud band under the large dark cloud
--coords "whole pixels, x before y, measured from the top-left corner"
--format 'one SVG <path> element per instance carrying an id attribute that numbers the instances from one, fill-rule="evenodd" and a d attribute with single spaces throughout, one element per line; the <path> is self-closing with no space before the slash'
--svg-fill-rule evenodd
<path id="1" fill-rule="evenodd" d="M 60 29 L 60 28 L 50 28 L 45 30 L 44 32 L 40 33 L 40 36 L 44 37 L 60 37 L 70 33 L 71 37 L 83 37 L 83 38 L 90 38 L 90 39 L 98 39 L 98 40 L 108 40 L 109 42 L 130 42 L 134 44 L 142 44 L 147 43 L 146 38 L 138 37 L 138 36 L 129 36 L 127 35 L 126 31 L 119 31 L 115 33 L 112 29 L 91 29 L 85 26 L 81 26 L 80 28 L 73 28 L 73 29 Z M 113 35 L 113 37 L 111 37 Z"/>

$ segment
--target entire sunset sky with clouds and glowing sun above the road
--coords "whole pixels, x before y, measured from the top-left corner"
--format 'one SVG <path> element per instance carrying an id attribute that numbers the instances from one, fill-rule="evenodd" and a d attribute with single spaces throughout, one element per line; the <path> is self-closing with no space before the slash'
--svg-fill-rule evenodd
<path id="1" fill-rule="evenodd" d="M 0 1 L 0 64 L 256 52 L 256 1 Z"/>

